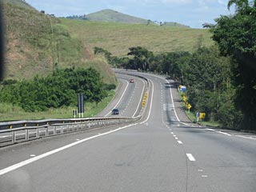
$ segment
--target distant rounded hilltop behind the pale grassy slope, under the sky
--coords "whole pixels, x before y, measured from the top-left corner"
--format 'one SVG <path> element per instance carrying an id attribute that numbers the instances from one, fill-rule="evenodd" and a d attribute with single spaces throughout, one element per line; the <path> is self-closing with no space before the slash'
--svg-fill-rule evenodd
<path id="1" fill-rule="evenodd" d="M 139 23 L 146 24 L 147 20 L 136 18 L 128 14 L 122 14 L 115 10 L 100 10 L 93 14 L 87 14 L 86 18 L 94 22 L 122 22 L 122 23 Z"/>

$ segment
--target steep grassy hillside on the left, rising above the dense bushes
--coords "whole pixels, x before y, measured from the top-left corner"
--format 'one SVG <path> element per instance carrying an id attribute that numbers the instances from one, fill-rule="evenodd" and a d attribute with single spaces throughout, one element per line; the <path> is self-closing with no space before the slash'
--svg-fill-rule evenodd
<path id="1" fill-rule="evenodd" d="M 115 81 L 106 60 L 96 58 L 61 20 L 39 13 L 23 1 L 5 2 L 6 79 L 44 76 L 55 67 L 93 66 L 107 83 Z"/>

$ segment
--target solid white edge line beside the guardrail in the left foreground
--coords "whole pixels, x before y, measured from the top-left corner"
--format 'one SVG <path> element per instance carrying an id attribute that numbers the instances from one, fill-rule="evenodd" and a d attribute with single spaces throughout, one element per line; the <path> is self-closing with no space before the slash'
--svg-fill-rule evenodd
<path id="1" fill-rule="evenodd" d="M 94 136 L 92 136 L 90 138 L 84 138 L 82 140 L 79 140 L 78 142 L 70 143 L 69 145 L 62 146 L 62 147 L 60 147 L 60 148 L 58 148 L 56 150 L 50 150 L 50 151 L 46 152 L 45 154 L 40 154 L 40 155 L 38 155 L 38 156 L 36 156 L 34 158 L 29 158 L 29 159 L 27 159 L 27 160 L 25 160 L 23 162 L 18 162 L 16 164 L 14 164 L 13 166 L 8 166 L 5 169 L 0 170 L 0 175 L 7 174 L 7 173 L 9 173 L 12 170 L 17 170 L 18 168 L 20 168 L 22 166 L 26 166 L 26 165 L 28 165 L 28 164 L 30 164 L 32 162 L 36 162 L 36 161 L 38 161 L 38 160 L 40 160 L 42 158 L 46 158 L 47 156 L 50 156 L 51 154 L 56 154 L 59 151 L 66 150 L 66 149 L 70 148 L 71 146 L 76 146 L 76 145 L 78 145 L 78 144 L 80 144 L 82 142 L 86 142 L 86 141 L 88 141 L 90 139 L 98 138 L 98 137 L 101 137 L 103 135 L 111 134 L 111 133 L 114 133 L 114 132 L 116 132 L 118 130 L 123 130 L 123 129 L 126 129 L 127 127 L 136 126 L 136 125 L 138 125 L 138 123 L 130 124 L 128 126 L 122 126 L 122 127 L 118 128 L 116 130 L 110 130 L 110 131 L 108 131 L 106 133 L 103 133 L 103 134 L 96 134 L 96 135 L 94 135 Z"/>

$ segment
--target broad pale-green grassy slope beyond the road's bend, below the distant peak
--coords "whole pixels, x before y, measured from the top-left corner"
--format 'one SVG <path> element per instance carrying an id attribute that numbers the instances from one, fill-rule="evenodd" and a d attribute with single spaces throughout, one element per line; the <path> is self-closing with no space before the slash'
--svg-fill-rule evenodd
<path id="1" fill-rule="evenodd" d="M 200 46 L 211 46 L 209 30 L 178 26 L 90 22 L 62 18 L 71 34 L 82 40 L 90 49 L 95 46 L 115 56 L 126 56 L 132 46 L 143 46 L 154 53 L 193 51 Z"/>

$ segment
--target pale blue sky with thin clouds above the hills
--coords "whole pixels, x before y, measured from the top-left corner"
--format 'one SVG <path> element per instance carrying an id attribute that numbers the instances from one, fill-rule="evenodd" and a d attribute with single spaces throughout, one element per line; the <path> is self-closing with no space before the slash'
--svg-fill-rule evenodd
<path id="1" fill-rule="evenodd" d="M 57 17 L 94 13 L 112 9 L 139 18 L 158 22 L 180 22 L 193 28 L 214 23 L 227 10 L 228 0 L 26 0 L 37 10 Z"/>

